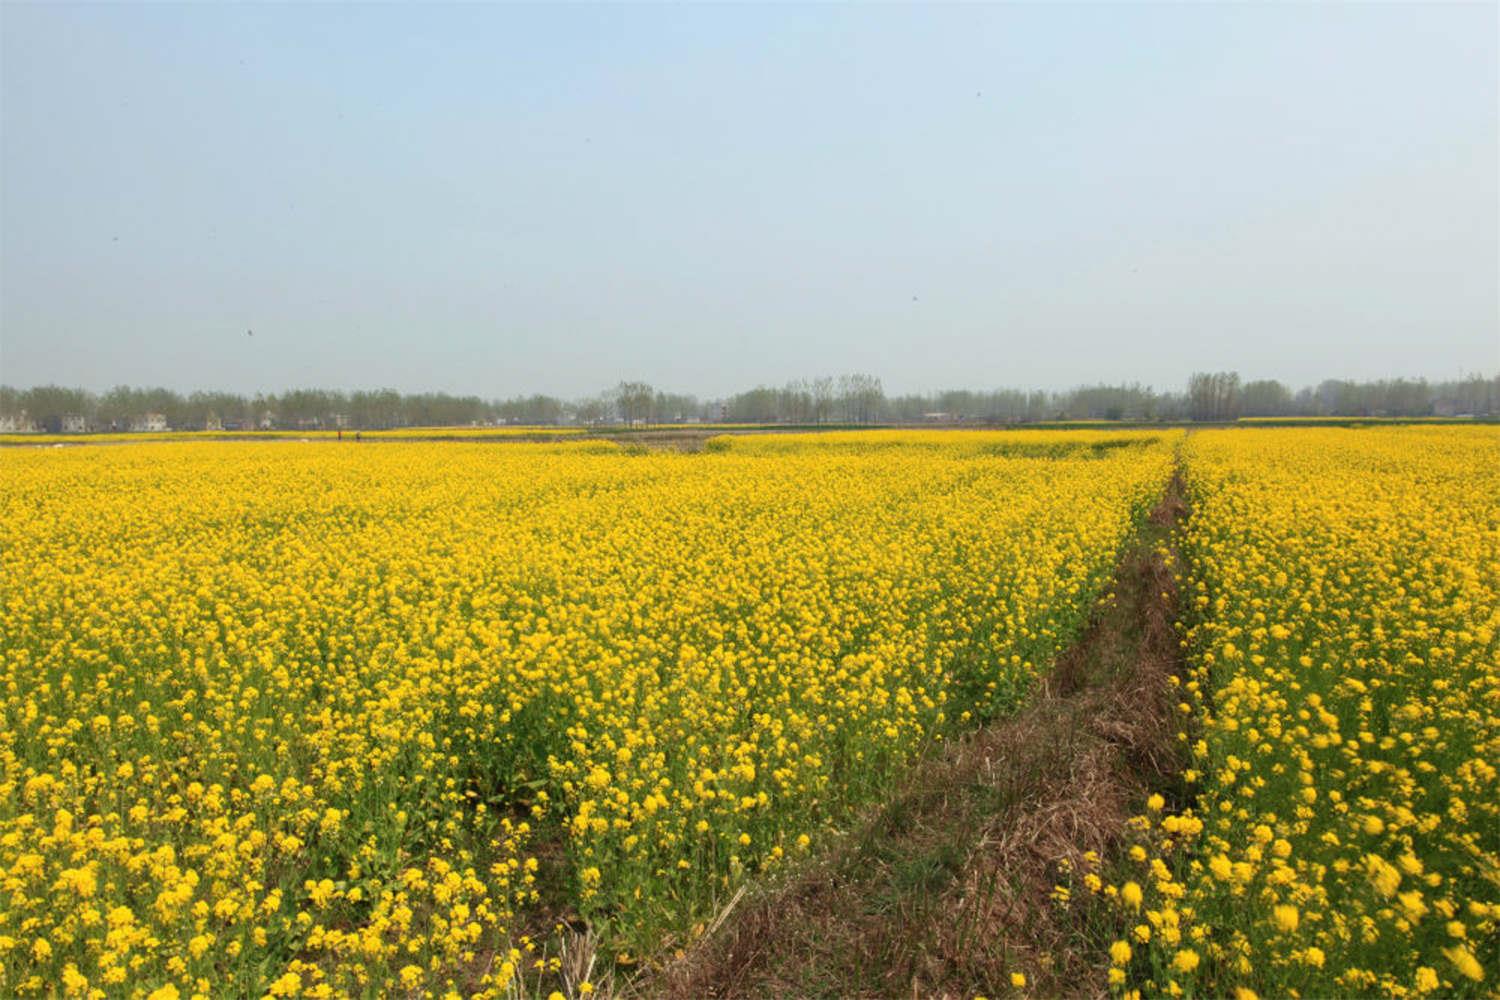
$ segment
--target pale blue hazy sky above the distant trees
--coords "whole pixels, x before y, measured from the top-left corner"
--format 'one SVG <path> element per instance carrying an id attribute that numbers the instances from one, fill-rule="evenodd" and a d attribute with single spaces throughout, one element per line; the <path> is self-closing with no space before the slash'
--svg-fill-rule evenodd
<path id="1" fill-rule="evenodd" d="M 12 385 L 1500 370 L 1492 3 L 0 10 Z"/>

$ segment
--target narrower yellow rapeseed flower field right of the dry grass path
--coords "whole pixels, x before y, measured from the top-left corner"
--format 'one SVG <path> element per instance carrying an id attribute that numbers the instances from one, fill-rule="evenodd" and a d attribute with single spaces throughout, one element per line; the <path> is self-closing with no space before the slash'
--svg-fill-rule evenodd
<path id="1" fill-rule="evenodd" d="M 1148 948 L 1112 979 L 1492 996 L 1500 433 L 1203 432 L 1185 459 L 1192 805 L 1131 822 L 1114 895 Z"/>

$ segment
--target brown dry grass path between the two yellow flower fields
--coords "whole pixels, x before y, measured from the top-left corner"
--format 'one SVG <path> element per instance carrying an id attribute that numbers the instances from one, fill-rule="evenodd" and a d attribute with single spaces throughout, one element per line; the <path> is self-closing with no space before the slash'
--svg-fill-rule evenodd
<path id="1" fill-rule="evenodd" d="M 1107 937 L 1052 889 L 1059 859 L 1118 844 L 1174 783 L 1180 670 L 1164 556 L 1186 516 L 1173 477 L 1124 553 L 1113 601 L 1034 702 L 918 769 L 818 867 L 740 901 L 628 993 L 670 997 L 1106 996 Z"/>

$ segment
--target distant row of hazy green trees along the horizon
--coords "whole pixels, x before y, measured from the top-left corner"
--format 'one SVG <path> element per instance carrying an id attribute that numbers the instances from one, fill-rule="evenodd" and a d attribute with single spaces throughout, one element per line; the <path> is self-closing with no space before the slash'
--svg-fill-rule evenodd
<path id="1" fill-rule="evenodd" d="M 314 429 L 453 427 L 478 424 L 654 424 L 654 423 L 975 423 L 1024 424 L 1052 420 L 1140 423 L 1224 421 L 1240 417 L 1448 417 L 1500 415 L 1500 375 L 1444 382 L 1425 379 L 1328 379 L 1298 391 L 1275 379 L 1240 381 L 1236 372 L 1194 373 L 1180 391 L 1149 385 L 1080 385 L 1044 390 L 942 390 L 886 396 L 879 378 L 849 373 L 758 385 L 723 399 L 662 391 L 626 381 L 585 399 L 531 394 L 510 399 L 399 393 L 393 388 L 338 391 L 298 388 L 276 394 L 176 393 L 120 385 L 82 388 L 0 385 L 6 429 L 130 430 L 159 417 L 168 427 Z M 152 421 L 154 423 L 154 421 Z"/>

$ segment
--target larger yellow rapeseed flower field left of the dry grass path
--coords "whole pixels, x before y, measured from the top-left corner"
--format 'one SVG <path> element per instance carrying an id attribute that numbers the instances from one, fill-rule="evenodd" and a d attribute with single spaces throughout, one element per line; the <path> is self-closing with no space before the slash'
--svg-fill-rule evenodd
<path id="1" fill-rule="evenodd" d="M 640 952 L 1012 708 L 1173 444 L 6 453 L 0 993 L 501 994 L 537 855 Z"/>

